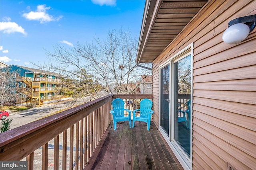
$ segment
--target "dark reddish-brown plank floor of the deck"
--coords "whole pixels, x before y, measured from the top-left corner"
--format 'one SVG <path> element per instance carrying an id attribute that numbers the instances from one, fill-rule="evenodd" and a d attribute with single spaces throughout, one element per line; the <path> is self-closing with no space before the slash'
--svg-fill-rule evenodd
<path id="1" fill-rule="evenodd" d="M 153 123 L 110 123 L 85 170 L 180 170 L 183 169 Z"/>

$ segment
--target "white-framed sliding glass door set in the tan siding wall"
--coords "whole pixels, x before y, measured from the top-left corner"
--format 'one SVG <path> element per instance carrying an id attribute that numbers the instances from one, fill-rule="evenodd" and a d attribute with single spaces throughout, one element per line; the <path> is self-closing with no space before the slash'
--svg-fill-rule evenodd
<path id="1" fill-rule="evenodd" d="M 192 46 L 159 67 L 159 129 L 188 167 L 192 159 Z"/>

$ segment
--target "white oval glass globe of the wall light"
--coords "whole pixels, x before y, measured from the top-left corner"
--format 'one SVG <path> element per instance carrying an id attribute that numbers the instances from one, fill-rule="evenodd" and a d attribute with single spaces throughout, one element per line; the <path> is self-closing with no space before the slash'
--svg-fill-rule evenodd
<path id="1" fill-rule="evenodd" d="M 222 39 L 227 44 L 240 43 L 248 36 L 250 29 L 244 23 L 236 23 L 226 29 L 222 35 Z"/>

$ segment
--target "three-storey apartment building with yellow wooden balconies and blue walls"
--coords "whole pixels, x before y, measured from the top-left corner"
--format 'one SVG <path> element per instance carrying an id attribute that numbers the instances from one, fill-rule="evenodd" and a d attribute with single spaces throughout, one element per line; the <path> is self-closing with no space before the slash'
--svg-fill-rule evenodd
<path id="1" fill-rule="evenodd" d="M 16 86 L 22 94 L 22 104 L 46 104 L 65 98 L 58 88 L 63 86 L 63 80 L 67 76 L 24 66 L 8 67 L 10 71 L 16 72 L 18 80 Z"/>

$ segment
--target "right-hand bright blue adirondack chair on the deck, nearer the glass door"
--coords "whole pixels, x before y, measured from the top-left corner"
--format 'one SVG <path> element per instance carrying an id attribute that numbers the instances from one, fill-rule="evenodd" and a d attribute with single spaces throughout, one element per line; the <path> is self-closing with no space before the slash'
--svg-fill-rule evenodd
<path id="1" fill-rule="evenodd" d="M 140 111 L 140 116 L 135 116 L 136 111 Z M 147 123 L 149 131 L 151 115 L 154 113 L 152 110 L 152 102 L 149 99 L 143 99 L 140 101 L 140 109 L 135 109 L 132 113 L 132 127 L 134 127 L 135 121 L 144 121 Z"/>

